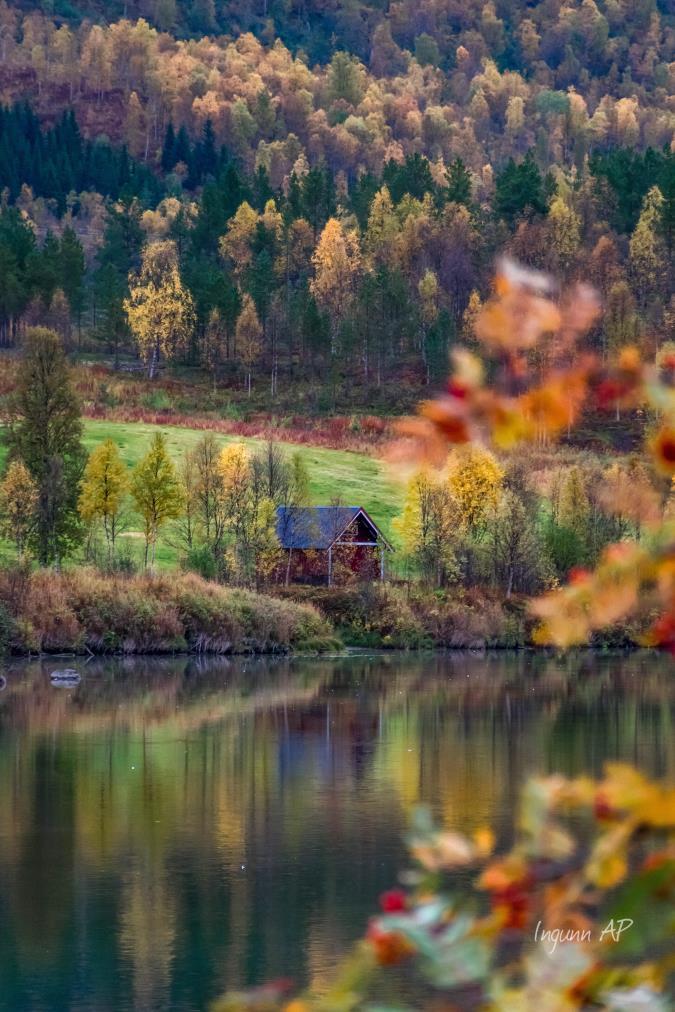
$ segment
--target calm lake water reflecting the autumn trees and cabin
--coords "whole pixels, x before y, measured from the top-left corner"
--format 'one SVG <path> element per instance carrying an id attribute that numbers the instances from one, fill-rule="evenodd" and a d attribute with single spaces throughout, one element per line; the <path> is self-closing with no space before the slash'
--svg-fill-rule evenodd
<path id="1" fill-rule="evenodd" d="M 4 669 L 3 1012 L 321 986 L 396 882 L 418 803 L 504 836 L 528 772 L 675 777 L 668 658 L 75 666 L 75 687 L 54 661 Z"/>

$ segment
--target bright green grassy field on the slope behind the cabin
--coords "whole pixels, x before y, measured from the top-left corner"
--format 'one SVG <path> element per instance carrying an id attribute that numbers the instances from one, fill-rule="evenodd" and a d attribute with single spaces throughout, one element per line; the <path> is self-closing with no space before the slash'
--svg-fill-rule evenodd
<path id="1" fill-rule="evenodd" d="M 193 446 L 204 434 L 195 429 L 159 427 L 142 423 L 85 421 L 84 424 L 84 442 L 87 450 L 92 450 L 98 443 L 110 438 L 119 447 L 122 459 L 130 468 L 147 451 L 150 440 L 157 431 L 165 434 L 169 452 L 176 462 L 185 450 Z M 261 445 L 259 440 L 238 436 L 217 434 L 217 439 L 223 445 L 243 442 L 251 450 Z M 281 443 L 281 445 L 289 453 L 297 449 L 303 456 L 310 473 L 312 501 L 316 505 L 329 505 L 339 498 L 346 506 L 362 506 L 385 534 L 392 534 L 392 519 L 403 506 L 403 487 L 391 478 L 381 460 L 349 450 L 294 446 L 291 443 Z M 0 462 L 4 461 L 5 453 L 5 448 L 0 448 Z M 135 530 L 137 527 L 137 518 L 132 514 L 124 542 L 134 545 L 133 554 L 140 558 L 142 542 L 138 530 Z M 167 543 L 166 537 L 163 538 L 158 552 L 158 561 L 167 565 L 174 563 L 175 560 L 175 550 Z"/>

